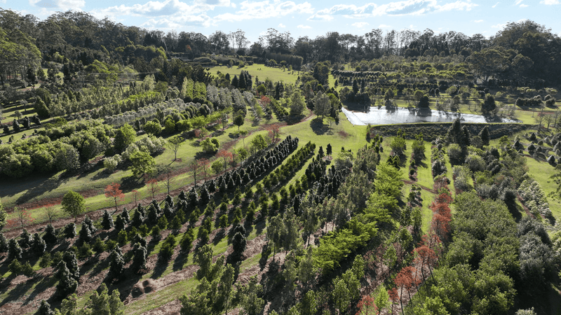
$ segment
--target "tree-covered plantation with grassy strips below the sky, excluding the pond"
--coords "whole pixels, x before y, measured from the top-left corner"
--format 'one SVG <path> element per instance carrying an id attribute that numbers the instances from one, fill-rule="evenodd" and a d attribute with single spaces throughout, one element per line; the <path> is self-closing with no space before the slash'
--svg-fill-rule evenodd
<path id="1" fill-rule="evenodd" d="M 561 38 L 544 26 L 249 43 L 1 10 L 0 54 L 0 312 L 561 307 Z M 382 105 L 521 120 L 342 113 Z"/>

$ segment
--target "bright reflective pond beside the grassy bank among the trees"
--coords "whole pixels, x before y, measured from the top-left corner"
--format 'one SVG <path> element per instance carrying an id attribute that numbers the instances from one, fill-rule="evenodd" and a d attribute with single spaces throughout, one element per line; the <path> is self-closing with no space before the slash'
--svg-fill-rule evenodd
<path id="1" fill-rule="evenodd" d="M 432 109 L 370 106 L 367 112 L 349 111 L 343 108 L 346 118 L 353 125 L 391 125 L 411 123 L 452 123 L 460 118 L 462 123 L 522 123 L 499 117 L 486 117 L 466 113 L 439 112 Z"/>

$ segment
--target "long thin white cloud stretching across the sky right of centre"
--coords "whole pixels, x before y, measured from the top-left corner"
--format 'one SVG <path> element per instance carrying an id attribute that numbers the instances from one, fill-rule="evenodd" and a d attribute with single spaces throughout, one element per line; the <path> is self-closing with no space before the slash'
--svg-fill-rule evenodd
<path id="1" fill-rule="evenodd" d="M 345 18 L 371 18 L 382 15 L 421 15 L 450 10 L 471 10 L 475 6 L 478 5 L 471 2 L 471 0 L 457 0 L 442 5 L 438 4 L 437 0 L 405 0 L 381 5 L 367 3 L 364 6 L 337 4 L 331 8 L 318 10 L 308 20 L 332 20 L 333 15 L 343 15 Z"/>

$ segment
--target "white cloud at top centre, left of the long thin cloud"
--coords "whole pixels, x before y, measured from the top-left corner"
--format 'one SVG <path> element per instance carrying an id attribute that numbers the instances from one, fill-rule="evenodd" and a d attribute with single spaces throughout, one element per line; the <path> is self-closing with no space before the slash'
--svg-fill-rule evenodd
<path id="1" fill-rule="evenodd" d="M 295 3 L 293 1 L 280 2 L 271 1 L 243 1 L 240 3 L 240 10 L 235 13 L 224 13 L 215 16 L 214 20 L 219 21 L 242 21 L 266 18 L 278 18 L 292 13 L 313 13 L 313 8 L 308 2 Z"/>

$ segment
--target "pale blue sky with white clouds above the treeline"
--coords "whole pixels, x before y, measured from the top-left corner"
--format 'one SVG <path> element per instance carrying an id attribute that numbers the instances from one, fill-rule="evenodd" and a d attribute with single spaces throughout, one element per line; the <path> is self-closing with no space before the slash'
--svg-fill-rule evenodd
<path id="1" fill-rule="evenodd" d="M 273 28 L 300 36 L 323 36 L 329 31 L 363 35 L 372 29 L 432 29 L 468 36 L 493 36 L 508 22 L 532 20 L 561 35 L 561 0 L 382 0 L 349 4 L 323 1 L 236 0 L 0 0 L 0 8 L 32 14 L 44 20 L 66 10 L 81 10 L 128 26 L 162 31 L 241 29 L 251 43 Z"/>

